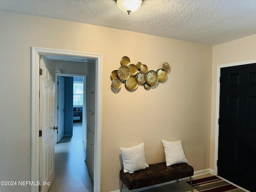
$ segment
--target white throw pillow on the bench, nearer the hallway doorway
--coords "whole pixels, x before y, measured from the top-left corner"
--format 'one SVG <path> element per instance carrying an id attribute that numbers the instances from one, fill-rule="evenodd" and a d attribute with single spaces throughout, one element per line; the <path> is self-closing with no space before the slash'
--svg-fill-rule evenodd
<path id="1" fill-rule="evenodd" d="M 146 163 L 144 143 L 129 148 L 120 147 L 120 151 L 125 173 L 133 173 L 134 171 L 149 167 Z"/>

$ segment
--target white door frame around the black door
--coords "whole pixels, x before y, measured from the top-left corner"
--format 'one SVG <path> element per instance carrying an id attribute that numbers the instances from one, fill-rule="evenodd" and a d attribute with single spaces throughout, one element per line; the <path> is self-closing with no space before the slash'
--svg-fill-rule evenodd
<path id="1" fill-rule="evenodd" d="M 220 69 L 223 67 L 232 67 L 232 66 L 238 66 L 238 65 L 246 65 L 246 64 L 252 64 L 256 63 L 256 59 L 254 60 L 247 60 L 247 61 L 241 61 L 241 62 L 234 62 L 234 63 L 228 63 L 228 64 L 221 64 L 217 65 L 217 77 L 216 77 L 216 113 L 215 113 L 215 148 L 214 148 L 214 175 L 218 174 L 218 166 L 217 166 L 217 160 L 218 160 L 218 146 L 219 146 L 219 125 L 218 125 L 218 119 L 220 114 Z"/>

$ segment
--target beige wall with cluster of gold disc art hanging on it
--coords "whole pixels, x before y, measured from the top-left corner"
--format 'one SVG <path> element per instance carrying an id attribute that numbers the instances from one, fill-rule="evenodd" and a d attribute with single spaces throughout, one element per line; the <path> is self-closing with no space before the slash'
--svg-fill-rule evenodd
<path id="1" fill-rule="evenodd" d="M 210 167 L 212 47 L 76 22 L 0 12 L 0 180 L 30 178 L 30 47 L 103 55 L 101 191 L 119 188 L 119 147 L 145 144 L 148 164 L 164 161 L 161 140 L 182 140 L 194 170 Z M 149 70 L 171 66 L 149 91 L 110 90 L 120 58 Z M 3 147 L 4 146 L 4 147 Z M 29 191 L 13 186 L 0 191 Z"/>

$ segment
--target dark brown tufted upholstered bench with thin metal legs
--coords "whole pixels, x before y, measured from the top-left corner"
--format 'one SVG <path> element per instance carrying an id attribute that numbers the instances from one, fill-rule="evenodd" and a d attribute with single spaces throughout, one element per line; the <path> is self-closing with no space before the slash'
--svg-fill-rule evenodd
<path id="1" fill-rule="evenodd" d="M 123 170 L 120 170 L 119 178 L 122 182 L 121 192 L 123 184 L 131 192 L 133 189 L 161 184 L 185 177 L 190 177 L 192 191 L 191 176 L 193 174 L 194 168 L 186 163 L 175 164 L 168 167 L 166 166 L 166 162 L 150 164 L 148 168 L 135 171 L 134 173 L 124 173 Z"/>

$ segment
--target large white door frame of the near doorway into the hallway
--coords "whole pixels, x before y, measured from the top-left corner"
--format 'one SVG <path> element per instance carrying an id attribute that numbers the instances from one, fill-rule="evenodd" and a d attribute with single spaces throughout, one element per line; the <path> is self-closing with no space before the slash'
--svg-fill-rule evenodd
<path id="1" fill-rule="evenodd" d="M 101 126 L 102 126 L 102 54 L 31 47 L 31 104 L 30 104 L 30 170 L 31 181 L 39 181 L 39 64 L 40 55 L 62 55 L 68 57 L 96 59 L 96 129 L 94 148 L 94 191 L 100 191 Z M 38 192 L 31 186 L 31 192 Z"/>

